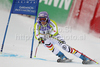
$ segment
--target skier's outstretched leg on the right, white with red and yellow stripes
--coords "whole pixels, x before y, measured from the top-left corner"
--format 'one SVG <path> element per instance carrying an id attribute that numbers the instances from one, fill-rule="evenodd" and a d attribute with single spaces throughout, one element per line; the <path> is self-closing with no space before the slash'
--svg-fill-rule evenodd
<path id="1" fill-rule="evenodd" d="M 79 53 L 78 50 L 76 50 L 76 49 L 74 49 L 74 48 L 68 46 L 68 45 L 66 44 L 66 42 L 64 41 L 64 39 L 63 39 L 60 35 L 55 36 L 55 38 L 57 38 L 57 39 L 59 39 L 60 41 L 62 41 L 62 42 L 59 42 L 58 40 L 56 40 L 56 43 L 57 43 L 58 45 L 60 45 L 60 46 L 62 47 L 62 49 L 64 49 L 65 51 L 67 51 L 67 52 L 69 52 L 69 53 L 75 55 L 76 57 L 82 59 L 83 61 L 84 61 L 84 60 L 89 60 L 88 58 L 86 58 L 85 56 L 83 56 L 81 53 Z M 58 41 L 58 42 L 57 42 L 57 41 Z"/>

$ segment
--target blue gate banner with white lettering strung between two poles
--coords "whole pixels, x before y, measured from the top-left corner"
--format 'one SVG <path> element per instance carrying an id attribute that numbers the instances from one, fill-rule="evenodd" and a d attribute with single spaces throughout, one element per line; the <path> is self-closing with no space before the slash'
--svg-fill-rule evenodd
<path id="1" fill-rule="evenodd" d="M 13 0 L 11 13 L 37 15 L 39 0 Z"/>

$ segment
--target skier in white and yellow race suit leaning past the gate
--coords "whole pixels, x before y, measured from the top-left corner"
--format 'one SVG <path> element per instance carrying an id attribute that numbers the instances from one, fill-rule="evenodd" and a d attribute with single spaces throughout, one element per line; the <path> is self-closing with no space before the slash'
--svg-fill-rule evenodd
<path id="1" fill-rule="evenodd" d="M 71 62 L 72 60 L 67 58 L 54 44 L 60 45 L 65 51 L 75 55 L 76 57 L 82 59 L 83 64 L 90 63 L 90 59 L 79 53 L 79 51 L 68 46 L 65 40 L 58 33 L 58 27 L 55 21 L 49 19 L 47 12 L 42 11 L 38 15 L 38 21 L 35 26 L 35 38 L 47 47 L 52 53 L 60 57 L 57 62 Z"/>

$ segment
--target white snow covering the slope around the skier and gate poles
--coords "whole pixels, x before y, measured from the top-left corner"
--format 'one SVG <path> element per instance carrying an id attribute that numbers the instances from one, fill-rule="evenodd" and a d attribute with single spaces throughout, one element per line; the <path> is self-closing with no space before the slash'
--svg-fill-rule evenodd
<path id="1" fill-rule="evenodd" d="M 9 12 L 0 10 L 0 48 L 8 21 Z M 34 59 L 35 49 L 38 41 L 34 40 L 33 58 L 30 59 L 32 32 L 34 19 L 24 17 L 18 14 L 12 14 L 5 40 L 3 53 L 11 53 L 24 56 L 18 57 L 0 57 L 0 67 L 100 67 L 100 64 L 83 65 L 82 60 L 74 55 L 62 50 L 68 58 L 72 58 L 72 63 L 57 63 L 56 57 L 43 45 L 40 45 L 37 52 L 37 58 L 43 58 L 49 61 Z M 87 56 L 97 60 L 100 63 L 100 39 L 91 34 L 78 31 L 70 26 L 60 27 L 59 33 L 71 47 L 83 52 Z"/>

